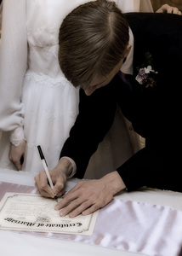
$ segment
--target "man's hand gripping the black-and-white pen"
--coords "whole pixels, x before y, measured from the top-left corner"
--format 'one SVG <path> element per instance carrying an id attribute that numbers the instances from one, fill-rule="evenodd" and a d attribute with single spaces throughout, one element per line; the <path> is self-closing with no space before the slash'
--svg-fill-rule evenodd
<path id="1" fill-rule="evenodd" d="M 48 177 L 45 171 L 39 172 L 34 177 L 36 188 L 44 197 L 54 198 L 54 195 L 63 195 L 65 193 L 65 183 L 71 169 L 71 162 L 67 159 L 61 159 L 59 164 L 53 170 L 49 171 L 52 182 L 54 183 L 54 189 L 51 189 L 48 185 Z"/>

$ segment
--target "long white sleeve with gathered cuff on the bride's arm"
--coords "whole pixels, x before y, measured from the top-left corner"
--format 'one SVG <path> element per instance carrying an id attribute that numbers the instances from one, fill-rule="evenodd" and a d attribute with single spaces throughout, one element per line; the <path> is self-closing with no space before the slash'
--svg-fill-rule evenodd
<path id="1" fill-rule="evenodd" d="M 3 0 L 0 44 L 0 130 L 22 140 L 21 92 L 27 62 L 26 0 Z"/>

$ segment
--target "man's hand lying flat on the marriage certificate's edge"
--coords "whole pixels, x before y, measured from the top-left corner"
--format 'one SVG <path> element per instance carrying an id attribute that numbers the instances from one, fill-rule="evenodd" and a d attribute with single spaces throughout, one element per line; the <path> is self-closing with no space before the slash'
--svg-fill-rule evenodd
<path id="1" fill-rule="evenodd" d="M 98 180 L 81 181 L 63 196 L 55 210 L 60 210 L 60 216 L 69 214 L 71 218 L 80 213 L 88 215 L 105 207 L 114 195 L 125 188 L 118 172 L 111 172 Z"/>

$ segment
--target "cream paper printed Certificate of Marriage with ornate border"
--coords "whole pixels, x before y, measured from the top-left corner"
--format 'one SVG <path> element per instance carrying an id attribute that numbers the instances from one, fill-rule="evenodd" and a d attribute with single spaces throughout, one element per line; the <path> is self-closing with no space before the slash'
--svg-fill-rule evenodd
<path id="1" fill-rule="evenodd" d="M 98 211 L 60 217 L 60 211 L 54 210 L 56 204 L 41 195 L 6 193 L 0 203 L 0 229 L 92 236 Z"/>

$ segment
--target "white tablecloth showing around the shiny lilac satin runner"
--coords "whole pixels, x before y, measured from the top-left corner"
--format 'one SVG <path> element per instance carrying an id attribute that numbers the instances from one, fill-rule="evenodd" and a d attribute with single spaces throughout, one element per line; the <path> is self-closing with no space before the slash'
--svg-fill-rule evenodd
<path id="1" fill-rule="evenodd" d="M 0 181 L 33 186 L 34 176 L 29 172 L 15 172 L 0 169 Z M 71 189 L 77 181 L 77 179 L 71 179 L 68 182 L 67 189 Z M 139 190 L 130 193 L 122 193 L 121 195 L 117 195 L 116 198 L 122 198 L 123 200 L 129 201 L 144 201 L 147 203 L 173 207 L 182 211 L 182 194 L 171 191 L 154 189 L 147 189 L 146 191 Z M 20 234 L 10 230 L 0 230 L 0 255 L 141 256 L 144 254 L 128 253 L 105 247 L 80 244 L 73 241 Z"/>

